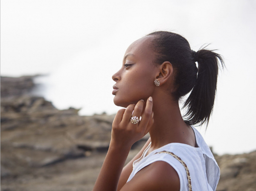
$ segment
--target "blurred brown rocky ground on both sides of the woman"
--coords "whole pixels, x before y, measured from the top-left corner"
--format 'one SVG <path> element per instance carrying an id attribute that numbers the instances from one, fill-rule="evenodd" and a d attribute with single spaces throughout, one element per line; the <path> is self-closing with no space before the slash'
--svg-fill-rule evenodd
<path id="1" fill-rule="evenodd" d="M 1 191 L 91 191 L 115 115 L 79 116 L 33 96 L 33 78 L 1 77 Z M 127 164 L 149 134 L 136 142 Z M 256 190 L 256 151 L 218 156 L 217 191 Z"/>

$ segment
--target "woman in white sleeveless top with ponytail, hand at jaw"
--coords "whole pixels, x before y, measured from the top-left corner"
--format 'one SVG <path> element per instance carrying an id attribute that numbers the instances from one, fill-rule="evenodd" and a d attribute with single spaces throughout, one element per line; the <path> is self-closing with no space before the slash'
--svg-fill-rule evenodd
<path id="1" fill-rule="evenodd" d="M 192 125 L 209 122 L 218 60 L 223 67 L 221 55 L 207 49 L 195 52 L 185 38 L 166 31 L 128 47 L 123 66 L 112 76 L 114 104 L 126 109 L 113 120 L 93 191 L 216 190 L 218 164 Z M 190 91 L 182 116 L 179 100 Z M 142 150 L 123 168 L 131 146 L 148 132 Z"/>

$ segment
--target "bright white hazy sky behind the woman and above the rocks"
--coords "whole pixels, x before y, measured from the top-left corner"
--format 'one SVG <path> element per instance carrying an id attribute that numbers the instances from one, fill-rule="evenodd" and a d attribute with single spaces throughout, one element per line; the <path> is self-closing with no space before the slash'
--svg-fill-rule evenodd
<path id="1" fill-rule="evenodd" d="M 127 47 L 157 30 L 224 57 L 207 131 L 217 154 L 256 150 L 255 0 L 1 0 L 1 76 L 44 75 L 38 95 L 79 115 L 114 114 L 112 75 Z"/>

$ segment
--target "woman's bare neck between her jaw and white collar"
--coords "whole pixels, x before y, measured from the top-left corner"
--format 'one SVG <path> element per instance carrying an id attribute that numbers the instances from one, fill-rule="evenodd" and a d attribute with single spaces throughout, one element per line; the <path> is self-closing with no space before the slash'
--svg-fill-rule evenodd
<path id="1" fill-rule="evenodd" d="M 172 142 L 189 144 L 192 129 L 182 119 L 178 101 L 168 95 L 154 96 L 153 112 L 154 124 L 149 130 L 152 150 Z"/>

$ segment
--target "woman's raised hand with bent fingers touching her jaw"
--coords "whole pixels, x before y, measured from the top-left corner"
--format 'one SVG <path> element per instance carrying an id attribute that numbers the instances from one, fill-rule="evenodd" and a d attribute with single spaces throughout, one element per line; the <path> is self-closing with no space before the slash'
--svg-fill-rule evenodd
<path id="1" fill-rule="evenodd" d="M 142 113 L 144 104 L 146 106 L 144 113 Z M 153 100 L 149 101 L 147 99 L 146 103 L 140 100 L 136 105 L 130 104 L 126 109 L 118 110 L 112 124 L 111 145 L 131 147 L 135 142 L 143 138 L 154 123 L 152 107 Z M 133 111 L 134 113 L 132 113 Z M 131 122 L 131 117 L 134 116 L 139 119 L 136 124 Z"/>

